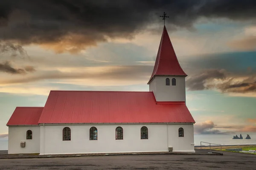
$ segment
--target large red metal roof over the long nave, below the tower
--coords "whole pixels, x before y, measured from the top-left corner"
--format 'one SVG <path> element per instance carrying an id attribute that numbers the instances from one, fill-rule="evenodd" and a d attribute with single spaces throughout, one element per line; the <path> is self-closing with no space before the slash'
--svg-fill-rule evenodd
<path id="1" fill-rule="evenodd" d="M 153 92 L 51 91 L 39 124 L 195 123 L 184 102 L 157 104 Z"/>

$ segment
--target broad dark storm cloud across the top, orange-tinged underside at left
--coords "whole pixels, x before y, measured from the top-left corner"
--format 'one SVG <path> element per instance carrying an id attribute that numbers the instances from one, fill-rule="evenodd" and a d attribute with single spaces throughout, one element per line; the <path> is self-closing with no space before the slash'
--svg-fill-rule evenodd
<path id="1" fill-rule="evenodd" d="M 168 28 L 177 29 L 191 28 L 199 17 L 254 20 L 255 7 L 254 0 L 1 0 L 0 40 L 79 52 L 163 24 L 163 12 Z"/>

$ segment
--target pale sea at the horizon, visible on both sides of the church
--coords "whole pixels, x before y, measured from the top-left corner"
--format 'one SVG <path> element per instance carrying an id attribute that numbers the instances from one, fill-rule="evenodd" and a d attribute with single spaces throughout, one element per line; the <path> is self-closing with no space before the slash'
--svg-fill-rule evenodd
<path id="1" fill-rule="evenodd" d="M 251 139 L 245 139 L 247 134 L 250 135 Z M 234 134 L 240 135 L 240 133 Z M 244 139 L 232 139 L 233 135 L 220 135 L 220 134 L 211 134 L 211 135 L 194 135 L 195 146 L 200 146 L 202 142 L 208 142 L 212 144 L 221 144 L 221 145 L 256 145 L 256 133 L 241 133 Z M 202 143 L 203 144 L 203 143 Z M 207 144 L 203 144 L 207 145 Z M 8 138 L 0 139 L 0 150 L 8 150 Z"/>

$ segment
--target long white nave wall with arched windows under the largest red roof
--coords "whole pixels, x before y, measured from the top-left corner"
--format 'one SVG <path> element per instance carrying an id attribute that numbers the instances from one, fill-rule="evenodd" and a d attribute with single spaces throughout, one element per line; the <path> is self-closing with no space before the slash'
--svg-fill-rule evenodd
<path id="1" fill-rule="evenodd" d="M 90 141 L 89 138 L 89 130 L 93 126 L 98 130 L 97 141 Z M 115 139 L 118 126 L 123 128 L 123 140 Z M 148 127 L 148 139 L 140 139 L 140 128 L 143 126 Z M 186 134 L 184 138 L 178 138 L 176 129 L 180 126 L 168 125 L 172 137 L 169 136 L 167 144 L 167 124 L 45 125 L 41 126 L 40 154 L 154 152 L 168 151 L 168 145 L 174 150 L 193 152 L 193 125 L 183 127 Z M 62 141 L 64 127 L 71 129 L 71 141 Z M 192 134 L 189 135 L 189 132 Z M 189 146 L 182 147 L 181 144 Z"/>

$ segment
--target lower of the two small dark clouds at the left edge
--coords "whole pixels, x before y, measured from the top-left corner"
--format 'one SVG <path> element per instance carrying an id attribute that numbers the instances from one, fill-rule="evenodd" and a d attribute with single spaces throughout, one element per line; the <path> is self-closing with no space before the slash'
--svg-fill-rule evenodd
<path id="1" fill-rule="evenodd" d="M 6 72 L 10 74 L 26 74 L 27 72 L 34 72 L 35 68 L 33 66 L 26 66 L 24 69 L 15 69 L 12 67 L 9 61 L 0 63 L 0 72 Z"/>

